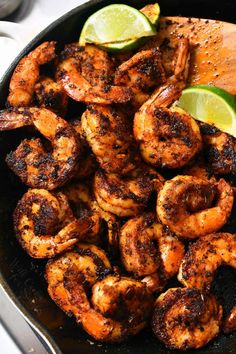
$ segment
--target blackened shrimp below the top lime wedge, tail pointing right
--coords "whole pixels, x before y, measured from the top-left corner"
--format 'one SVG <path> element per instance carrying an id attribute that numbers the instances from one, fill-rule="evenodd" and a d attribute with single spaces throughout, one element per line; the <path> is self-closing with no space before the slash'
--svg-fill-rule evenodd
<path id="1" fill-rule="evenodd" d="M 114 66 L 107 52 L 94 45 L 68 45 L 61 54 L 57 80 L 76 101 L 111 104 L 131 99 L 128 87 L 112 82 Z"/>

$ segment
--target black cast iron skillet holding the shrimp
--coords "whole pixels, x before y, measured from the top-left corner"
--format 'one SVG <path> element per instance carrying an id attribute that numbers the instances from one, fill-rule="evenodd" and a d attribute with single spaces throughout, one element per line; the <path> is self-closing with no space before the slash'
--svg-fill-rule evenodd
<path id="1" fill-rule="evenodd" d="M 143 7 L 148 2 L 152 1 L 125 1 L 137 8 Z M 0 108 L 4 108 L 9 79 L 21 57 L 45 40 L 56 40 L 61 47 L 65 43 L 77 40 L 85 19 L 94 11 L 110 3 L 114 1 L 93 0 L 79 6 L 55 21 L 32 40 L 10 66 L 0 83 Z M 163 15 L 235 21 L 235 0 L 160 0 L 159 3 Z M 12 228 L 12 212 L 26 187 L 9 171 L 4 160 L 6 153 L 18 145 L 22 136 L 24 134 L 22 135 L 20 130 L 4 132 L 0 136 L 0 282 L 12 302 L 16 304 L 36 332 L 43 337 L 48 352 L 60 354 L 180 353 L 166 349 L 148 329 L 123 344 L 94 343 L 75 324 L 74 319 L 64 315 L 50 300 L 43 277 L 45 261 L 31 259 L 18 245 Z M 234 224 L 234 221 L 231 221 L 226 229 L 234 232 Z M 226 267 L 219 272 L 217 278 L 220 286 L 218 288 L 216 286 L 216 292 L 221 302 L 230 308 L 236 303 L 235 274 Z M 236 353 L 236 334 L 220 335 L 213 343 L 192 352 Z"/>

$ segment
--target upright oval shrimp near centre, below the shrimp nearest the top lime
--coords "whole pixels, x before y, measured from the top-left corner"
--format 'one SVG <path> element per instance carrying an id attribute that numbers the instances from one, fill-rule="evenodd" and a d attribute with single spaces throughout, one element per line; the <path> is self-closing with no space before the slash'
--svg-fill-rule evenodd
<path id="1" fill-rule="evenodd" d="M 89 106 L 81 118 L 82 129 L 100 166 L 108 173 L 134 169 L 136 146 L 132 128 L 110 106 Z"/>

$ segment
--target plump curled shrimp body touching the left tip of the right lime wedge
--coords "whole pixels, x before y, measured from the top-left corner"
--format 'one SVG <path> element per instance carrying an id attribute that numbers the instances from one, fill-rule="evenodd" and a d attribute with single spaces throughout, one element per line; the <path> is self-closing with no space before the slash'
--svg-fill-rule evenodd
<path id="1" fill-rule="evenodd" d="M 163 89 L 154 104 L 145 103 L 134 118 L 134 136 L 143 159 L 169 169 L 185 166 L 202 146 L 194 119 L 177 107 L 167 108 L 161 103 L 161 95 L 172 94 L 172 87 L 167 86 L 167 93 Z"/>

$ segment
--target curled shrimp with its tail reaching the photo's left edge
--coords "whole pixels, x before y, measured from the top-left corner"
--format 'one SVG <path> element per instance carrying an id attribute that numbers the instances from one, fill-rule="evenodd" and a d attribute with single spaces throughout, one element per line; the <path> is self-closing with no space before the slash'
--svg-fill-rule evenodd
<path id="1" fill-rule="evenodd" d="M 46 108 L 15 108 L 0 112 L 0 131 L 33 125 L 53 150 L 48 152 L 40 139 L 25 139 L 6 162 L 22 182 L 33 188 L 55 189 L 73 174 L 80 147 L 68 122 Z"/>

